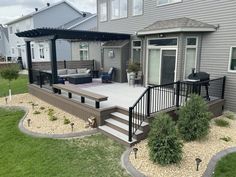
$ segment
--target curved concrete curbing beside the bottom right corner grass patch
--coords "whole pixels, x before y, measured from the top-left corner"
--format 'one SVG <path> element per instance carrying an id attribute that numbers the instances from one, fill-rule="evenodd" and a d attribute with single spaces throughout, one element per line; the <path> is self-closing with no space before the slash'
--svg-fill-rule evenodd
<path id="1" fill-rule="evenodd" d="M 225 150 L 220 151 L 217 154 L 215 154 L 211 158 L 210 162 L 208 163 L 207 169 L 204 172 L 204 174 L 202 175 L 202 177 L 212 177 L 212 175 L 214 174 L 214 170 L 215 170 L 217 162 L 220 159 L 222 159 L 224 156 L 234 153 L 234 152 L 236 152 L 236 147 L 228 148 L 228 149 L 225 149 Z"/>

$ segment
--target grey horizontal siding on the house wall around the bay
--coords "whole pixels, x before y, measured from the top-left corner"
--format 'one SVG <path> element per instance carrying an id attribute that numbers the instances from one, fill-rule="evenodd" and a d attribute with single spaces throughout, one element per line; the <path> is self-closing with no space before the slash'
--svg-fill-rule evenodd
<path id="1" fill-rule="evenodd" d="M 98 7 L 100 1 L 98 0 Z M 230 47 L 236 46 L 236 1 L 183 0 L 181 3 L 158 7 L 156 0 L 144 0 L 144 14 L 135 17 L 131 14 L 132 1 L 128 2 L 128 18 L 110 20 L 109 1 L 108 21 L 98 22 L 99 31 L 135 34 L 155 21 L 180 17 L 188 17 L 215 26 L 219 25 L 216 32 L 203 34 L 199 65 L 201 71 L 211 74 L 211 78 L 227 76 L 226 109 L 236 111 L 236 73 L 228 72 Z M 98 14 L 99 12 L 98 8 Z"/>

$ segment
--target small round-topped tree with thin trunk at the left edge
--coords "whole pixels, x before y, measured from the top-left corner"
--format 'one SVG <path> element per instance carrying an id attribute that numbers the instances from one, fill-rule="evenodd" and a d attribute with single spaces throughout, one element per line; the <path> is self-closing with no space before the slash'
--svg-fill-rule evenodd
<path id="1" fill-rule="evenodd" d="M 19 77 L 19 67 L 17 65 L 10 65 L 0 70 L 0 75 L 3 79 L 8 80 L 9 99 L 11 100 L 11 81 Z"/>

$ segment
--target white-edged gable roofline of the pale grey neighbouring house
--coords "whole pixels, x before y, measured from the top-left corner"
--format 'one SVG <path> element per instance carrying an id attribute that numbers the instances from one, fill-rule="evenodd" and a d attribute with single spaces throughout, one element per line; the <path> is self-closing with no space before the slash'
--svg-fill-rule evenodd
<path id="1" fill-rule="evenodd" d="M 24 16 L 18 18 L 18 19 L 15 19 L 15 20 L 13 20 L 13 21 L 10 21 L 10 22 L 6 23 L 6 25 L 11 25 L 11 24 L 16 23 L 16 22 L 18 22 L 18 21 L 21 21 L 21 20 L 30 18 L 30 17 L 32 17 L 32 16 L 38 14 L 38 13 L 41 13 L 41 12 L 43 12 L 43 11 L 45 11 L 45 10 L 48 10 L 48 9 L 50 9 L 50 8 L 53 8 L 53 7 L 55 7 L 55 6 L 57 6 L 57 5 L 60 5 L 60 4 L 62 4 L 62 3 L 66 3 L 68 6 L 70 6 L 72 9 L 74 9 L 75 11 L 77 11 L 78 13 L 80 13 L 81 15 L 83 14 L 83 12 L 79 11 L 76 7 L 74 7 L 74 5 L 72 5 L 72 4 L 71 4 L 70 2 L 68 2 L 67 0 L 61 0 L 61 1 L 57 2 L 57 3 L 51 4 L 50 6 L 46 6 L 46 7 L 42 8 L 42 9 L 39 9 L 38 11 L 34 11 L 34 12 L 28 14 L 28 15 L 24 15 Z"/>

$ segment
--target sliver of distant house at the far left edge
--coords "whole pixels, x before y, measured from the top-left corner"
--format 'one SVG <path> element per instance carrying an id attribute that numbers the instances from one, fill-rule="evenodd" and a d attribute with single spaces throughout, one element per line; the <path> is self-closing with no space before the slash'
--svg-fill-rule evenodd
<path id="1" fill-rule="evenodd" d="M 7 28 L 0 24 L 0 59 L 7 59 L 9 55 L 8 31 Z"/>

